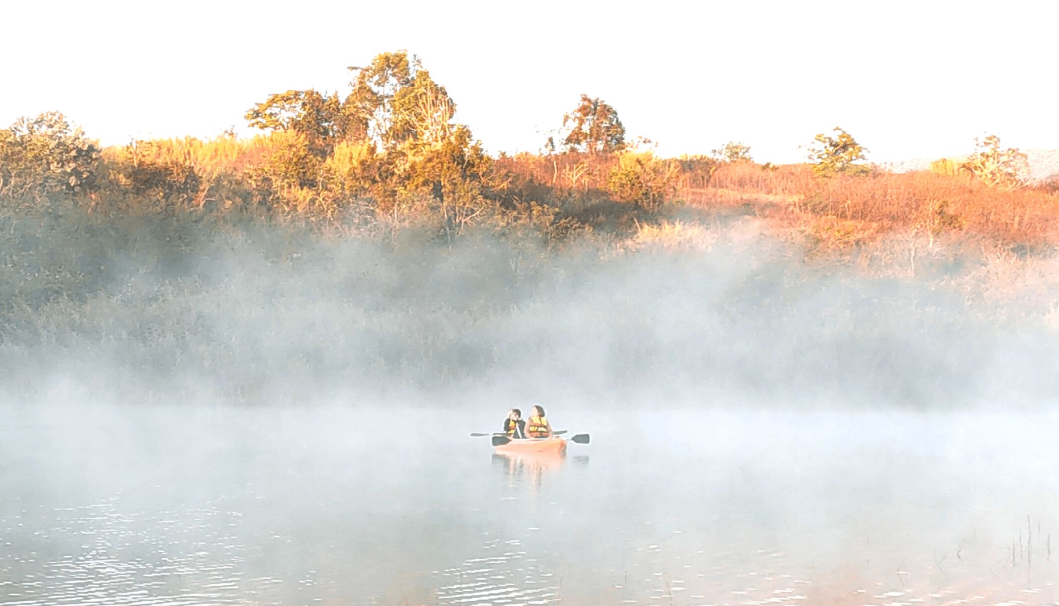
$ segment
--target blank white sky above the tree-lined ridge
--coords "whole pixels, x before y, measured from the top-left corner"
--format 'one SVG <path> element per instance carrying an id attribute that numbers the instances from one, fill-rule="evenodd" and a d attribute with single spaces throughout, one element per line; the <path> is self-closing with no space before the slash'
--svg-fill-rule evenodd
<path id="1" fill-rule="evenodd" d="M 874 161 L 1059 147 L 1059 2 L 11 2 L 0 125 L 58 109 L 104 144 L 211 137 L 268 94 L 419 55 L 490 152 L 537 150 L 580 95 L 666 155 L 798 161 L 841 125 Z"/>

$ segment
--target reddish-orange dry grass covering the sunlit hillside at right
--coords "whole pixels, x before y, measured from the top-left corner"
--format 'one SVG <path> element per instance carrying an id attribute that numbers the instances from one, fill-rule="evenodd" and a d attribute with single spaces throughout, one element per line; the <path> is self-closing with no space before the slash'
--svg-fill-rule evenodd
<path id="1" fill-rule="evenodd" d="M 750 203 L 778 231 L 825 247 L 855 246 L 895 232 L 958 236 L 1039 248 L 1059 238 L 1059 194 L 1049 188 L 1004 191 L 963 175 L 933 172 L 814 179 L 806 165 L 775 171 L 718 167 L 710 188 L 682 192 L 710 208 Z"/>

